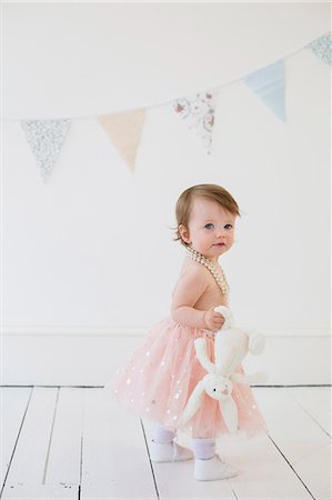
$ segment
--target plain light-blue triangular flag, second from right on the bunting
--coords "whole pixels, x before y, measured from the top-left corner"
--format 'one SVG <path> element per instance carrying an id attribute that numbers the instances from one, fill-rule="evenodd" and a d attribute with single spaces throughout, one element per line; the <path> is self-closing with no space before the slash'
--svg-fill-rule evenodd
<path id="1" fill-rule="evenodd" d="M 285 121 L 283 60 L 248 74 L 243 82 L 278 118 Z"/>

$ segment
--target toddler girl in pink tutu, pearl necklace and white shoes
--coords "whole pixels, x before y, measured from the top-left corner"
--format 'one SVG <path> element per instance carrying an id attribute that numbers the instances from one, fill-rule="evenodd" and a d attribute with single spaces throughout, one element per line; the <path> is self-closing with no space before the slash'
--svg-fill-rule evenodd
<path id="1" fill-rule="evenodd" d="M 208 394 L 183 426 L 192 437 L 191 450 L 174 438 L 177 422 L 197 383 L 207 374 L 195 358 L 194 340 L 202 337 L 213 361 L 214 336 L 224 318 L 214 311 L 228 304 L 229 286 L 219 257 L 231 249 L 239 207 L 233 197 L 214 184 L 187 189 L 177 203 L 177 240 L 185 258 L 172 293 L 170 318 L 159 322 L 114 379 L 117 399 L 143 418 L 157 422 L 150 443 L 155 462 L 189 460 L 194 454 L 194 478 L 225 479 L 237 471 L 214 453 L 215 438 L 228 432 L 219 402 Z M 242 367 L 238 368 L 243 372 Z M 239 430 L 253 436 L 265 430 L 249 386 L 233 384 Z"/>

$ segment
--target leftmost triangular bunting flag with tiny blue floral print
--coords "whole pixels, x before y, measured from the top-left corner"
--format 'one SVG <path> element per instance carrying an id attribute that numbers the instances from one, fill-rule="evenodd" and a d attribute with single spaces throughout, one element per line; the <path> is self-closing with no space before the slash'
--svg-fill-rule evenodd
<path id="1" fill-rule="evenodd" d="M 21 121 L 21 127 L 40 168 L 43 182 L 47 182 L 51 176 L 70 123 L 70 120 Z"/>

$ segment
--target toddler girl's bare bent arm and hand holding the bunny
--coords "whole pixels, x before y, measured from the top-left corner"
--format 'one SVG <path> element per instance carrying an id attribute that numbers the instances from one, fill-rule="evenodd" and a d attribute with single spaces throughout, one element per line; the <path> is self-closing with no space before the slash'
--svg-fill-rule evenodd
<path id="1" fill-rule="evenodd" d="M 213 308 L 208 311 L 194 309 L 194 304 L 207 290 L 207 278 L 201 269 L 189 269 L 178 282 L 173 292 L 171 304 L 172 320 L 194 328 L 208 328 L 219 330 L 222 327 L 223 317 L 214 312 Z"/>

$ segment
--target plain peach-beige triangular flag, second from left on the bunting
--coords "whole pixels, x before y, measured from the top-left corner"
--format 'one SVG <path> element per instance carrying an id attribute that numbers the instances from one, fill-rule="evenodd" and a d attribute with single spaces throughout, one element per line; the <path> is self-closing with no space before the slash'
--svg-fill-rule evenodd
<path id="1" fill-rule="evenodd" d="M 140 146 L 145 109 L 99 117 L 98 121 L 131 171 Z"/>

